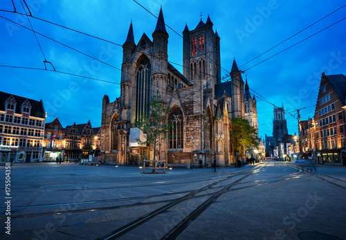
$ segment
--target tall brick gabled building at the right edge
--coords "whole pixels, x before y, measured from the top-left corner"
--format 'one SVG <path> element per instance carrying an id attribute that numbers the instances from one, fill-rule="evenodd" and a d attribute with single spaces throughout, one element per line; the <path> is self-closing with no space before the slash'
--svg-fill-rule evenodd
<path id="1" fill-rule="evenodd" d="M 322 73 L 314 121 L 319 163 L 346 165 L 346 76 Z"/>

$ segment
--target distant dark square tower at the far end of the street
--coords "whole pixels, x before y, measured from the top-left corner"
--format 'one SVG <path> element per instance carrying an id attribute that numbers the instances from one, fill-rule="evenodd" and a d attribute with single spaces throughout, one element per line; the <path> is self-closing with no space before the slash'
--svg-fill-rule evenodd
<path id="1" fill-rule="evenodd" d="M 284 118 L 284 104 L 282 107 L 274 106 L 274 120 L 273 120 L 273 140 L 274 148 L 277 147 L 282 138 L 289 133 L 287 130 L 287 121 Z"/>

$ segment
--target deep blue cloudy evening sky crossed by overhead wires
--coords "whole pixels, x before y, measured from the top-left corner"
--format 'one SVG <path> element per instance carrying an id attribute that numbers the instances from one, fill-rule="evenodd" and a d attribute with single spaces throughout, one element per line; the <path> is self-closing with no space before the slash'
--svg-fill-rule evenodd
<path id="1" fill-rule="evenodd" d="M 24 12 L 19 0 L 15 0 L 17 12 Z M 127 37 L 131 20 L 134 37 L 138 42 L 143 33 L 152 39 L 157 19 L 141 8 L 135 1 L 105 0 L 26 0 L 33 16 L 56 24 L 80 30 L 84 33 L 107 39 L 122 45 Z M 221 67 L 230 71 L 233 57 L 240 70 L 246 71 L 264 59 L 297 44 L 318 31 L 334 24 L 346 16 L 346 7 L 326 17 L 302 33 L 285 41 L 252 62 L 242 66 L 257 55 L 295 35 L 300 30 L 345 5 L 345 1 L 181 1 L 149 0 L 141 1 L 154 15 L 163 8 L 165 24 L 182 33 L 185 24 L 194 29 L 208 15 L 214 30 L 221 37 Z M 13 10 L 11 0 L 3 0 L 0 10 Z M 30 28 L 23 15 L 0 11 L 18 24 Z M 93 39 L 71 30 L 30 18 L 33 28 L 56 41 L 80 50 L 96 59 L 121 68 L 122 47 L 107 41 Z M 168 59 L 182 64 L 183 39 L 167 28 Z M 33 32 L 0 17 L 0 65 L 45 68 L 44 57 Z M 57 71 L 94 77 L 100 80 L 120 83 L 120 71 L 97 62 L 66 46 L 37 35 L 46 61 Z M 248 83 L 256 91 L 260 136 L 272 135 L 273 105 L 288 111 L 307 107 L 300 111 L 302 120 L 312 118 L 316 104 L 320 76 L 346 75 L 346 20 L 310 37 L 306 41 L 289 48 L 268 59 L 266 62 L 248 69 Z M 174 65 L 182 72 L 181 66 Z M 48 69 L 52 66 L 47 65 Z M 120 96 L 120 86 L 107 82 L 86 80 L 81 77 L 64 75 L 51 71 L 37 71 L 20 68 L 0 67 L 0 91 L 21 95 L 34 100 L 43 100 L 48 112 L 47 122 L 58 117 L 66 125 L 85 123 L 91 120 L 93 127 L 100 127 L 102 98 L 109 95 L 111 102 Z M 253 91 L 251 91 L 253 93 Z M 289 133 L 297 132 L 297 120 L 286 115 Z"/>

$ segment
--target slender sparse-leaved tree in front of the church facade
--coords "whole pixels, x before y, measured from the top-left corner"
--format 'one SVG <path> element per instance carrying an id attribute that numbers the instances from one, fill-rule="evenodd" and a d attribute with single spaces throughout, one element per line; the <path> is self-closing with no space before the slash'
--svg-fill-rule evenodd
<path id="1" fill-rule="evenodd" d="M 134 121 L 135 127 L 138 127 L 147 136 L 143 142 L 139 139 L 136 140 L 140 145 L 149 145 L 149 148 L 153 150 L 154 161 L 156 161 L 156 147 L 161 146 L 162 142 L 167 141 L 168 138 L 170 129 L 170 121 L 167 121 L 168 113 L 170 113 L 170 108 L 167 108 L 165 102 L 161 100 L 161 96 L 158 96 L 149 103 L 149 111 L 142 113 L 142 117 Z"/>

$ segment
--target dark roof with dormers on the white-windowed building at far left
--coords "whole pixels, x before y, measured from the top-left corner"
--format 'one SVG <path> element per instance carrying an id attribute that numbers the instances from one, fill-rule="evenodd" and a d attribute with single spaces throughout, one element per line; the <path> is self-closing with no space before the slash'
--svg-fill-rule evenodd
<path id="1" fill-rule="evenodd" d="M 44 104 L 42 100 L 40 101 L 32 100 L 29 98 L 23 98 L 19 95 L 4 93 L 0 91 L 0 110 L 1 111 L 5 111 L 5 102 L 10 97 L 10 95 L 13 95 L 13 98 L 15 98 L 17 102 L 15 113 L 21 114 L 21 104 L 23 104 L 25 100 L 28 100 L 31 105 L 30 116 L 37 117 L 37 118 L 46 118 L 46 111 L 44 111 Z"/>

